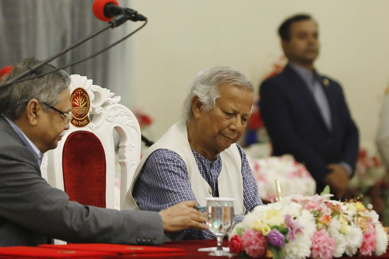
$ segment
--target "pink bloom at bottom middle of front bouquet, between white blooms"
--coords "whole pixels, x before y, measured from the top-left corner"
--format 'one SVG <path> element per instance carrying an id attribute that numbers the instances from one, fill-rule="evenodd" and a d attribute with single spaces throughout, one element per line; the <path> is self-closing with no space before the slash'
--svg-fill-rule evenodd
<path id="1" fill-rule="evenodd" d="M 311 257 L 313 259 L 331 259 L 335 251 L 335 239 L 324 229 L 312 235 Z"/>

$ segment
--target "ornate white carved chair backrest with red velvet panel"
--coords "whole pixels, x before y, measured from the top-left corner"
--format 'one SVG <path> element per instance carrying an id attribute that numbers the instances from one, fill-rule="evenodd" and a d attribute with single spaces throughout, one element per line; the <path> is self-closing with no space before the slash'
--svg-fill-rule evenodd
<path id="1" fill-rule="evenodd" d="M 79 91 L 71 97 L 72 112 L 79 120 L 73 119 L 57 148 L 45 154 L 42 177 L 53 187 L 65 190 L 71 200 L 83 205 L 115 208 L 115 200 L 119 199 L 115 197 L 113 131 L 116 130 L 120 136 L 117 156 L 121 171 L 121 207 L 141 156 L 139 123 L 128 108 L 119 104 L 119 96 L 92 85 L 91 79 L 71 75 L 69 87 L 72 93 Z M 83 115 L 86 117 L 82 118 Z M 88 116 L 90 123 L 85 125 Z M 78 127 L 74 126 L 77 124 Z"/>

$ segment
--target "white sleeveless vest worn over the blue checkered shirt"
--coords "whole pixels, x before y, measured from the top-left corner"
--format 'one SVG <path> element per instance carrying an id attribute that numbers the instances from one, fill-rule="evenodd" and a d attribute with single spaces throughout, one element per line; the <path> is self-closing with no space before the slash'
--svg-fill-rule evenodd
<path id="1" fill-rule="evenodd" d="M 182 122 L 172 125 L 168 131 L 154 145 L 152 145 L 143 155 L 135 170 L 130 189 L 124 199 L 124 209 L 139 209 L 132 191 L 138 179 L 139 173 L 147 157 L 158 149 L 169 149 L 176 152 L 184 160 L 188 169 L 189 182 L 200 206 L 206 206 L 207 197 L 212 197 L 212 188 L 198 171 L 195 156 L 192 153 L 188 141 L 186 126 Z M 235 215 L 244 215 L 246 208 L 243 203 L 243 178 L 242 178 L 242 158 L 236 144 L 232 144 L 228 149 L 220 153 L 222 169 L 217 178 L 217 186 L 220 197 L 234 198 Z M 152 191 L 152 190 L 150 190 Z"/>

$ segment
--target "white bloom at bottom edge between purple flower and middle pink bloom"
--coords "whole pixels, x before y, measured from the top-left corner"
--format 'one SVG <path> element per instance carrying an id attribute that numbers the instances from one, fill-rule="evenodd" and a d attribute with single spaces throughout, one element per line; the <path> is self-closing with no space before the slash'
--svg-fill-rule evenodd
<path id="1" fill-rule="evenodd" d="M 299 232 L 295 240 L 288 242 L 281 253 L 284 259 L 305 259 L 311 255 L 312 241 L 307 234 Z"/>

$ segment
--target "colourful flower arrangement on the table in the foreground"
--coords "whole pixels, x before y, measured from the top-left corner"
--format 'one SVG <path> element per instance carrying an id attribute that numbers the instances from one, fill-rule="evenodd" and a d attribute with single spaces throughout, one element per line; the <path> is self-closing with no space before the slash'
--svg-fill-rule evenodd
<path id="1" fill-rule="evenodd" d="M 380 256 L 388 235 L 374 210 L 332 194 L 293 195 L 255 207 L 230 233 L 230 252 L 240 257 L 331 259 Z"/>

